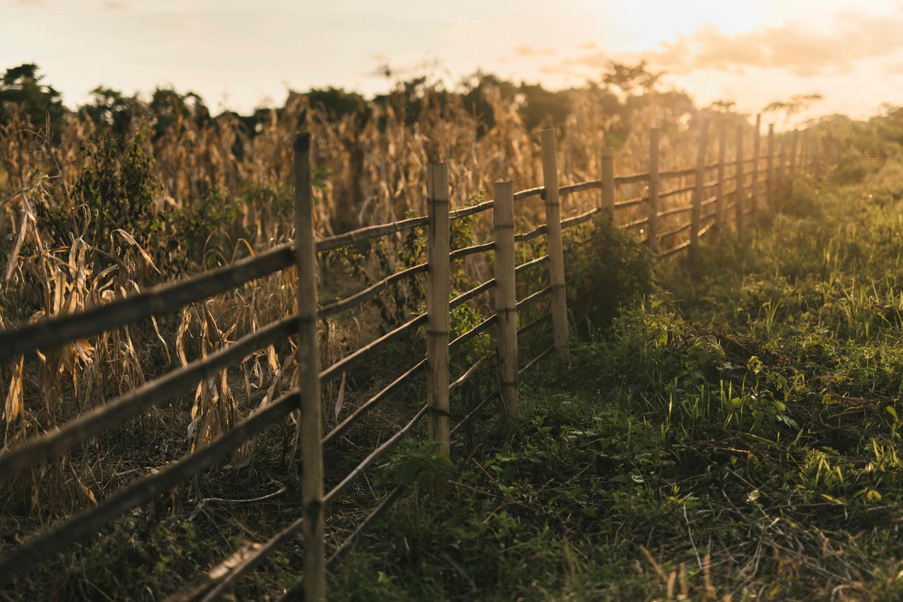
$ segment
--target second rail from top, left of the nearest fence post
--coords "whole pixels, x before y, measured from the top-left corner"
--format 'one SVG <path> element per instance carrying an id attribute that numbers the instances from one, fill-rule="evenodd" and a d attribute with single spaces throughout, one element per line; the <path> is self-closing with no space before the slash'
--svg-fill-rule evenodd
<path id="1" fill-rule="evenodd" d="M 266 325 L 254 333 L 238 339 L 228 347 L 210 353 L 202 360 L 164 374 L 145 383 L 107 405 L 91 409 L 63 425 L 0 455 L 0 482 L 30 466 L 37 466 L 59 456 L 72 446 L 96 437 L 107 428 L 122 424 L 154 405 L 169 399 L 180 390 L 196 386 L 201 380 L 212 377 L 229 365 L 240 362 L 251 353 L 267 345 L 278 343 L 295 334 L 298 321 L 295 316 Z"/>

